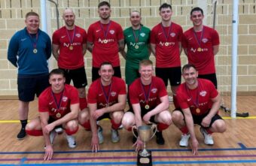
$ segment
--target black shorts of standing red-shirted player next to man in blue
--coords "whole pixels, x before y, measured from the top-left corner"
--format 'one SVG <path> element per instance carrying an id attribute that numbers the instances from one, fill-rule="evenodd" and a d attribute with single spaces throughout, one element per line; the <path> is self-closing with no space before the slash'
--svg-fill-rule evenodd
<path id="1" fill-rule="evenodd" d="M 73 70 L 60 68 L 64 71 L 66 77 L 66 83 L 70 84 L 71 80 L 73 80 L 73 84 L 76 88 L 84 88 L 87 86 L 87 74 L 83 68 L 77 68 Z"/>

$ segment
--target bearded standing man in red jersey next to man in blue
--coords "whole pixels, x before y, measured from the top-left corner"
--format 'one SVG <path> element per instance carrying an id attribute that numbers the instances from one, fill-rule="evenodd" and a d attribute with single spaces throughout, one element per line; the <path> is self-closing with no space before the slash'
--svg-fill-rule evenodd
<path id="1" fill-rule="evenodd" d="M 80 107 L 83 111 L 87 108 L 87 75 L 84 69 L 87 32 L 75 25 L 75 14 L 72 9 L 65 9 L 62 18 L 65 26 L 53 33 L 53 56 L 59 68 L 65 72 L 66 83 L 69 84 L 73 80 L 74 86 L 78 89 Z"/>

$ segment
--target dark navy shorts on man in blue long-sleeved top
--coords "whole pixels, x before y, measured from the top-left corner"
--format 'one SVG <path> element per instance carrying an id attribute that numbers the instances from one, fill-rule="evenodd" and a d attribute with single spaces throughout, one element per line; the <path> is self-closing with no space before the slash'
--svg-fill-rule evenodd
<path id="1" fill-rule="evenodd" d="M 18 75 L 19 100 L 24 102 L 33 101 L 35 95 L 38 97 L 49 83 L 49 74 Z"/>

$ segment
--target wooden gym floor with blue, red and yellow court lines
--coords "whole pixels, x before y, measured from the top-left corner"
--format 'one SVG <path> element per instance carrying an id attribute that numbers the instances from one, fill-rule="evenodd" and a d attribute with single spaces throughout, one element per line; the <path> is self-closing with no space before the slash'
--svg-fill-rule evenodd
<path id="1" fill-rule="evenodd" d="M 225 100 L 229 101 L 228 97 Z M 256 96 L 238 96 L 237 112 L 248 112 L 248 118 L 230 119 L 229 113 L 220 110 L 227 122 L 224 134 L 213 134 L 215 145 L 206 146 L 199 127 L 196 126 L 200 142 L 199 155 L 191 155 L 189 148 L 178 146 L 181 133 L 171 125 L 163 132 L 166 143 L 159 146 L 155 138 L 147 143 L 152 150 L 154 165 L 256 165 Z M 37 100 L 30 104 L 29 119 L 38 116 Z M 43 161 L 43 137 L 29 137 L 17 140 L 20 122 L 17 120 L 17 100 L 0 100 L 0 165 L 136 165 L 136 152 L 132 147 L 132 133 L 121 129 L 120 142 L 111 143 L 110 123 L 103 120 L 105 136 L 100 151 L 91 152 L 90 131 L 79 128 L 75 135 L 77 147 L 69 149 L 63 134 L 56 137 L 52 161 Z M 229 107 L 229 105 L 227 105 Z M 170 108 L 172 110 L 172 106 Z"/>

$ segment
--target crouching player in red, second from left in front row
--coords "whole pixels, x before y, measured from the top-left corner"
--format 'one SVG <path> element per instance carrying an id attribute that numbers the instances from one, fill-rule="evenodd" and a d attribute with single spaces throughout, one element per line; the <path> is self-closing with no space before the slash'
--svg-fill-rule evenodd
<path id="1" fill-rule="evenodd" d="M 111 140 L 120 140 L 117 129 L 121 125 L 123 109 L 126 107 L 126 84 L 119 77 L 113 77 L 111 63 L 103 62 L 99 68 L 100 77 L 93 81 L 88 90 L 88 107 L 90 110 L 90 126 L 92 134 L 92 151 L 99 150 L 103 143 L 102 127 L 96 125 L 101 119 L 111 119 Z"/>

